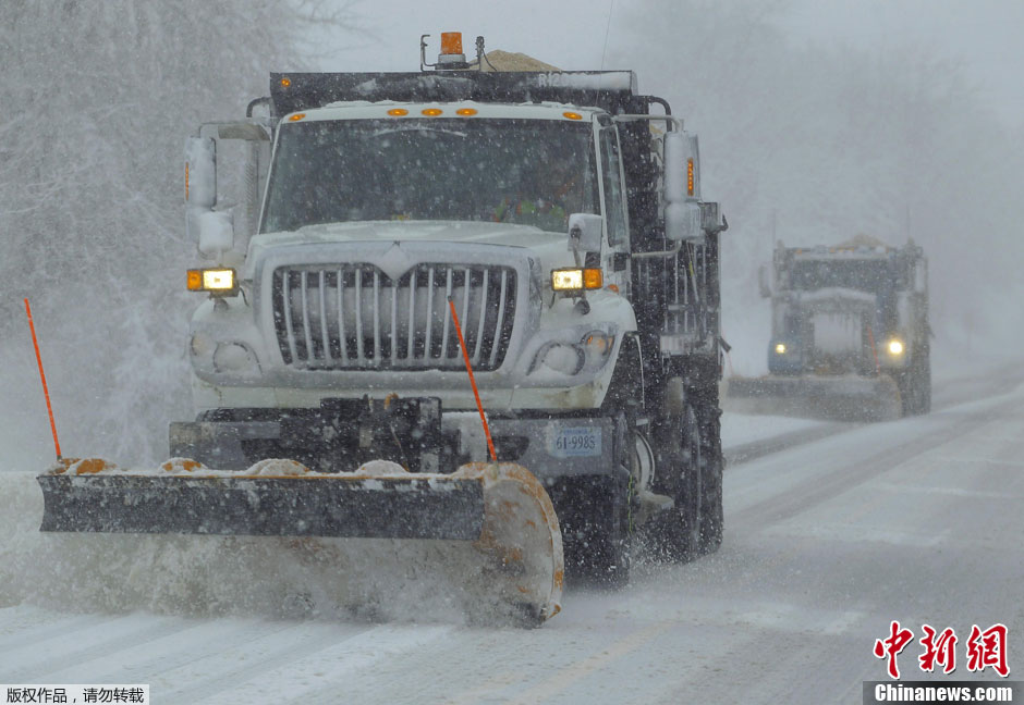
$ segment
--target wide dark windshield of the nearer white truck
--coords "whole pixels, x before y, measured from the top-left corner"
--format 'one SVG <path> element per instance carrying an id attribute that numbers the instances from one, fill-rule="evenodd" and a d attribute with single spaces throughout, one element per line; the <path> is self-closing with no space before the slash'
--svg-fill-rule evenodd
<path id="1" fill-rule="evenodd" d="M 261 232 L 380 220 L 492 221 L 564 233 L 600 213 L 588 123 L 338 120 L 283 124 Z"/>

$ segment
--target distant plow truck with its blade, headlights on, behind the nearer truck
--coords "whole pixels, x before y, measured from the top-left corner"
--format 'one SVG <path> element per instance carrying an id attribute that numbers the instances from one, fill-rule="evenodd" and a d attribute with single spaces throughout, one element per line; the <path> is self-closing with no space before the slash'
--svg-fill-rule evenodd
<path id="1" fill-rule="evenodd" d="M 909 242 L 858 235 L 833 247 L 776 245 L 768 376 L 732 378 L 755 412 L 880 420 L 931 408 L 928 262 Z"/>

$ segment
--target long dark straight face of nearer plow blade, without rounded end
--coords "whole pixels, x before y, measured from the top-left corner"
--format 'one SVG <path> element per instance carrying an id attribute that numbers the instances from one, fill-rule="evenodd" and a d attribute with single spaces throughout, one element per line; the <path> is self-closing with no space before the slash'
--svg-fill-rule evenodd
<path id="1" fill-rule="evenodd" d="M 41 531 L 474 541 L 474 480 L 42 475 Z"/>

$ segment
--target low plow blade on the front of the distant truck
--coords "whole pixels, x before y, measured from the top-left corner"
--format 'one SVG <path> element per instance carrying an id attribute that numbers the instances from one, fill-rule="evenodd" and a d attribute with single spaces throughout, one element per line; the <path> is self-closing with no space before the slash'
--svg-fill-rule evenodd
<path id="1" fill-rule="evenodd" d="M 900 417 L 900 391 L 889 375 L 730 378 L 726 406 L 740 413 L 836 421 L 887 421 Z"/>

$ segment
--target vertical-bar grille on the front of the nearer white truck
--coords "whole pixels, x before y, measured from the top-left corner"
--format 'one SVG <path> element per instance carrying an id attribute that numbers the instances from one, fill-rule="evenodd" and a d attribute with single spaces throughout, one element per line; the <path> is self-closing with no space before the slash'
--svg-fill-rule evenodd
<path id="1" fill-rule="evenodd" d="M 504 361 L 515 270 L 418 264 L 398 280 L 368 263 L 280 267 L 273 322 L 285 364 L 310 370 L 462 369 L 448 298 L 474 370 Z"/>

